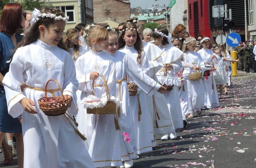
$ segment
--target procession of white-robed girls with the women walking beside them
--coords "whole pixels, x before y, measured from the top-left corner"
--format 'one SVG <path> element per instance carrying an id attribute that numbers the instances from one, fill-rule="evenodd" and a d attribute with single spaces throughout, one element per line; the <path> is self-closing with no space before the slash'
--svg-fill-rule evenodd
<path id="1" fill-rule="evenodd" d="M 14 133 L 19 168 L 130 168 L 139 154 L 156 147 L 155 135 L 177 138 L 176 129 L 186 127 L 187 118 L 218 107 L 228 94 L 230 62 L 239 59 L 232 60 L 224 44 L 210 45 L 209 37 L 191 37 L 182 24 L 172 33 L 165 27 L 143 30 L 134 17 L 117 31 L 80 23 L 63 37 L 68 19 L 49 7 L 24 11 L 9 3 L 3 8 L 4 164 L 15 155 Z M 20 28 L 23 35 L 17 33 Z M 62 93 L 54 82 L 45 88 L 49 79 L 59 82 Z M 70 101 L 65 115 L 40 110 L 38 100 L 45 92 Z M 85 100 L 104 98 L 106 92 L 122 104 L 111 114 L 89 114 L 85 104 L 98 105 L 99 99 Z"/>

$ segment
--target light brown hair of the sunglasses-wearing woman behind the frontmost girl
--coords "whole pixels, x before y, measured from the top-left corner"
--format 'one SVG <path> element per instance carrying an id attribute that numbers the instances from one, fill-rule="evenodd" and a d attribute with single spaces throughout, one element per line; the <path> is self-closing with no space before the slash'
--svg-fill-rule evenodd
<path id="1" fill-rule="evenodd" d="M 76 33 L 79 33 L 79 31 L 77 29 L 69 29 L 66 33 L 66 35 L 63 37 L 63 41 L 65 43 L 65 45 L 68 47 L 68 48 L 71 48 L 70 47 L 70 41 L 69 41 L 69 38 L 73 37 L 74 34 Z M 71 51 L 69 51 L 69 53 L 71 54 Z M 75 45 L 74 46 L 74 53 L 72 55 L 73 57 L 73 60 L 76 61 L 77 58 L 79 57 L 79 45 Z"/>

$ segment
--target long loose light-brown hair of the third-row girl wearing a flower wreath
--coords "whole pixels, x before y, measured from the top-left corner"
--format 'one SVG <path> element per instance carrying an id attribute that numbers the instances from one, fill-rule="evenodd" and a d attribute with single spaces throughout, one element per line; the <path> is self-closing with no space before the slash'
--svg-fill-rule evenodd
<path id="1" fill-rule="evenodd" d="M 126 28 L 129 30 L 130 30 L 130 28 L 136 29 L 136 30 L 132 30 L 132 31 L 136 31 L 136 34 L 137 34 L 137 39 L 136 39 L 136 43 L 134 44 L 134 48 L 138 51 L 137 62 L 138 62 L 138 65 L 140 65 L 141 55 L 142 55 L 142 51 L 143 51 L 143 45 L 142 45 L 142 40 L 140 39 L 139 33 L 137 31 L 137 26 L 134 23 L 130 22 L 130 23 L 124 24 L 123 30 L 125 30 L 125 31 L 122 31 L 122 33 L 120 34 L 120 36 L 118 38 L 118 49 L 125 46 L 125 40 L 123 38 L 125 36 Z"/>

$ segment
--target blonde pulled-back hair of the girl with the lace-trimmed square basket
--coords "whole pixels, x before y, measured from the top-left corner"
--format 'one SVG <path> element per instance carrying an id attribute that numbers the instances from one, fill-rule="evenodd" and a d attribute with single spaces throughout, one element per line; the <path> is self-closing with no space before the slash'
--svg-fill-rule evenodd
<path id="1" fill-rule="evenodd" d="M 102 26 L 91 26 L 89 30 L 86 30 L 87 36 L 85 36 L 85 41 L 87 46 L 91 47 L 91 39 L 94 39 L 94 43 L 98 43 L 99 41 L 105 40 L 109 33 L 106 28 Z"/>

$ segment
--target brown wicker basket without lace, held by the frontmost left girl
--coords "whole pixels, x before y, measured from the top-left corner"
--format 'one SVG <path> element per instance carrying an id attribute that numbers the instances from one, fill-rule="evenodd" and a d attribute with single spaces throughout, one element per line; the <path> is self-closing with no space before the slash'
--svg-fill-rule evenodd
<path id="1" fill-rule="evenodd" d="M 54 81 L 59 85 L 61 96 L 57 97 L 47 97 L 47 85 L 50 81 Z M 58 81 L 54 79 L 50 79 L 47 81 L 44 89 L 44 96 L 43 98 L 40 98 L 38 100 L 39 108 L 44 112 L 47 116 L 59 116 L 62 114 L 65 114 L 69 105 L 70 105 L 70 99 L 64 99 L 62 88 L 60 87 L 60 84 Z"/>

